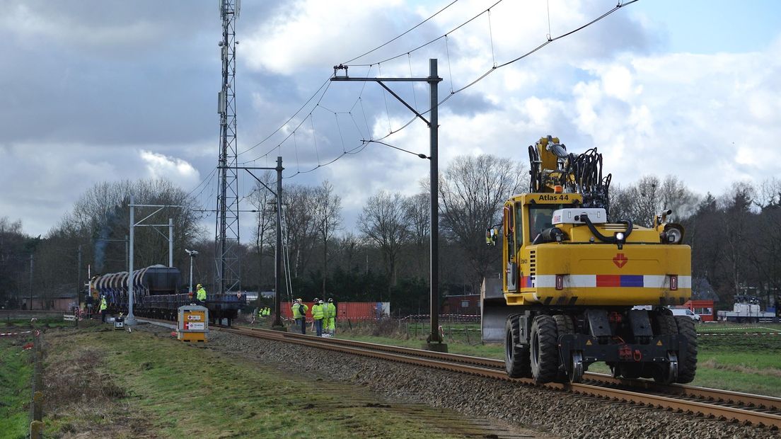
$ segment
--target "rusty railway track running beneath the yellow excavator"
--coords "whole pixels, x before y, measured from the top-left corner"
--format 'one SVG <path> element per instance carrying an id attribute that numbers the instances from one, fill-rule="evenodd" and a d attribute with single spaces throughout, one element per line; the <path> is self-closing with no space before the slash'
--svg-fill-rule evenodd
<path id="1" fill-rule="evenodd" d="M 215 328 L 233 334 L 533 385 L 531 379 L 509 378 L 505 373 L 505 362 L 496 359 L 250 327 Z M 712 419 L 751 423 L 771 430 L 781 428 L 781 398 L 679 384 L 662 385 L 647 380 L 616 379 L 601 373 L 586 373 L 583 379 L 584 382 L 579 384 L 549 383 L 544 384 L 544 387 L 656 409 L 691 413 Z"/>

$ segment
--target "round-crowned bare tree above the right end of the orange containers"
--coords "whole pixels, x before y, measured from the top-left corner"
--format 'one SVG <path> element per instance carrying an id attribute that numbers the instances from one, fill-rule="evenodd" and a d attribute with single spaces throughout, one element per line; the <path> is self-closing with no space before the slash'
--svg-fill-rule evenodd
<path id="1" fill-rule="evenodd" d="M 385 269 L 391 279 L 391 287 L 396 285 L 398 256 L 401 246 L 409 238 L 404 198 L 400 194 L 380 191 L 366 203 L 358 216 L 358 228 L 366 234 L 383 254 Z"/>

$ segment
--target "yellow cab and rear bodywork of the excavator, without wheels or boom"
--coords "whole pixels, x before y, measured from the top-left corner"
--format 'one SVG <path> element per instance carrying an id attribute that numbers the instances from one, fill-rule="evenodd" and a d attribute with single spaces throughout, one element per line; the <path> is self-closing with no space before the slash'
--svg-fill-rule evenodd
<path id="1" fill-rule="evenodd" d="M 549 218 L 581 201 L 578 194 L 542 193 L 516 195 L 505 203 L 507 305 L 683 305 L 689 300 L 691 248 L 662 244 L 656 229 L 633 226 L 619 249 L 600 242 L 585 224 L 557 224 L 569 239 L 533 244 L 541 229 L 551 227 L 535 224 L 537 213 Z M 626 229 L 624 224 L 595 226 L 607 236 Z"/>

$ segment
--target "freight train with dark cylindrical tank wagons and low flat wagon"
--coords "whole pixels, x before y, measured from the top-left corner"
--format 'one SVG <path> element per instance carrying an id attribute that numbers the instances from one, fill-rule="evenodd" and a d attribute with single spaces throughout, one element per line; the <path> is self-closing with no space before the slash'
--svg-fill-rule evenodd
<path id="1" fill-rule="evenodd" d="M 181 273 L 176 267 L 155 265 L 133 272 L 133 313 L 134 316 L 155 319 L 177 319 L 177 309 L 193 301 L 186 289 L 180 290 Z M 92 277 L 89 282 L 90 294 L 95 303 L 105 296 L 110 314 L 127 314 L 128 274 L 127 271 L 107 273 Z M 244 294 L 215 293 L 206 294 L 206 308 L 209 319 L 218 322 L 235 319 L 238 310 L 247 305 Z"/>

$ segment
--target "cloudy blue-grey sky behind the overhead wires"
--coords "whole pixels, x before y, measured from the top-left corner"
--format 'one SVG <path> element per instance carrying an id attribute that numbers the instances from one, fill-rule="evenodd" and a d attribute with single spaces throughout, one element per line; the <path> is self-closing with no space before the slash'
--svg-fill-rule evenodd
<path id="1" fill-rule="evenodd" d="M 404 127 L 412 112 L 378 84 L 328 81 L 334 65 L 350 64 L 352 77 L 426 77 L 436 58 L 447 98 L 616 0 L 459 0 L 350 61 L 449 2 L 241 2 L 238 161 L 273 166 L 281 155 L 284 184 L 330 180 L 350 230 L 370 195 L 412 195 L 428 175 L 426 160 L 361 140 L 427 153 L 428 134 L 420 120 Z M 527 145 L 554 134 L 573 152 L 599 148 L 614 184 L 670 173 L 720 194 L 778 177 L 779 9 L 772 0 L 626 5 L 452 95 L 440 106 L 440 166 L 481 153 L 526 161 Z M 93 184 L 144 177 L 169 178 L 214 208 L 218 2 L 0 0 L 0 10 L 0 216 L 46 234 Z M 391 87 L 428 109 L 426 84 Z M 242 195 L 251 185 L 241 175 Z"/>

